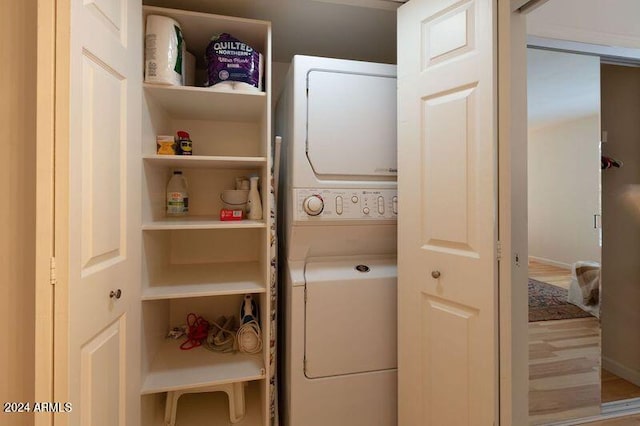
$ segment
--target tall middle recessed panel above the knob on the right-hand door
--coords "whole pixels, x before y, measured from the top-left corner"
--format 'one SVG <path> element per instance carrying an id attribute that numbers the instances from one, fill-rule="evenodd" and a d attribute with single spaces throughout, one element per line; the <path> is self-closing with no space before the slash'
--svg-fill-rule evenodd
<path id="1" fill-rule="evenodd" d="M 477 256 L 473 248 L 475 89 L 456 88 L 422 101 L 422 162 L 429 163 L 422 176 L 422 229 L 429 250 Z M 431 202 L 445 199 L 446 203 Z"/>

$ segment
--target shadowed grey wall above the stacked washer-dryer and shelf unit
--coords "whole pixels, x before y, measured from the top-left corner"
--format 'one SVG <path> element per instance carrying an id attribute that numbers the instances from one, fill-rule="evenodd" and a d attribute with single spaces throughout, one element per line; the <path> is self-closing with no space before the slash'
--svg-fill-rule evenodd
<path id="1" fill-rule="evenodd" d="M 387 4 L 386 10 L 336 4 L 333 0 L 143 0 L 143 3 L 271 21 L 276 62 L 291 62 L 293 55 L 396 62 L 394 9 L 400 4 L 395 2 L 372 2 Z"/>

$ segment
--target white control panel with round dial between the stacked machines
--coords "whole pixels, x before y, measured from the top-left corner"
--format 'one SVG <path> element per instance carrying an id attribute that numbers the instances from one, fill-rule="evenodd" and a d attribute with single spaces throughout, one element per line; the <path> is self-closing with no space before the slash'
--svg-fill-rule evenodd
<path id="1" fill-rule="evenodd" d="M 395 220 L 395 189 L 294 189 L 294 220 Z"/>

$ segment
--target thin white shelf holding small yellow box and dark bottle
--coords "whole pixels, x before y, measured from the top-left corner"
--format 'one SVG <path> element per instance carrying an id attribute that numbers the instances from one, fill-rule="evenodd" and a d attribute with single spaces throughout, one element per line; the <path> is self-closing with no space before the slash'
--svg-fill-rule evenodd
<path id="1" fill-rule="evenodd" d="M 247 169 L 267 164 L 267 157 L 226 157 L 206 155 L 145 155 L 142 159 L 153 165 L 181 168 Z"/>

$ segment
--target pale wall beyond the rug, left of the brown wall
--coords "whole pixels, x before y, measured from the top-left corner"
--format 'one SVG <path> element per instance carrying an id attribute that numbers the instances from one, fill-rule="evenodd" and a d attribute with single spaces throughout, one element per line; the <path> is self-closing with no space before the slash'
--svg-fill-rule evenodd
<path id="1" fill-rule="evenodd" d="M 600 260 L 600 117 L 529 131 L 529 256 L 571 265 Z"/>

